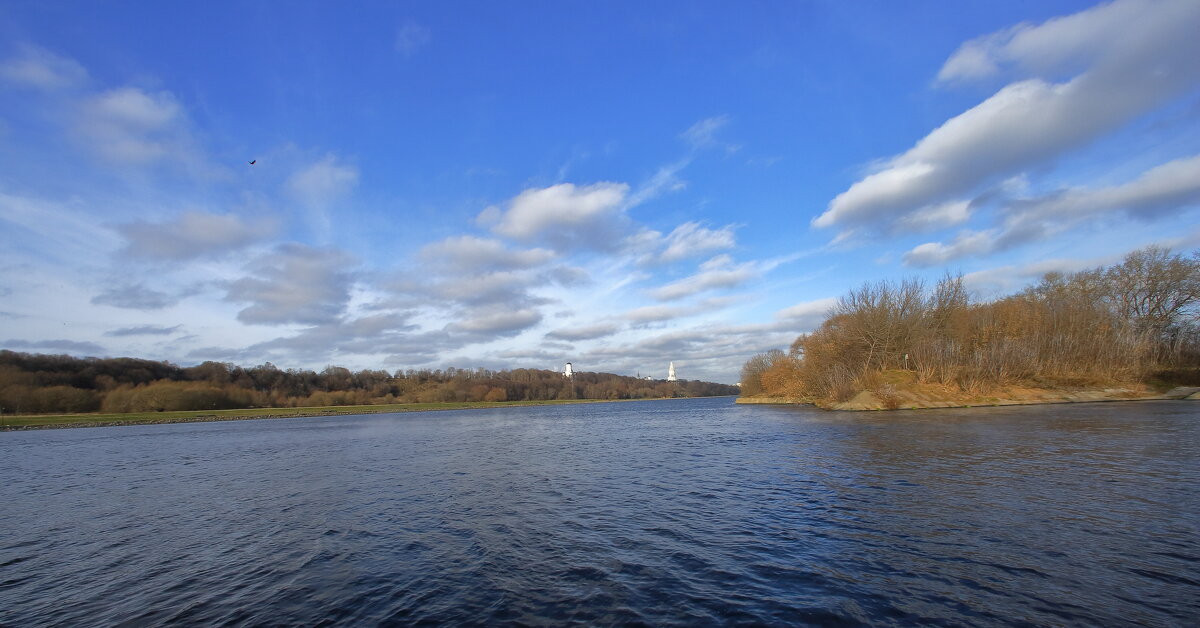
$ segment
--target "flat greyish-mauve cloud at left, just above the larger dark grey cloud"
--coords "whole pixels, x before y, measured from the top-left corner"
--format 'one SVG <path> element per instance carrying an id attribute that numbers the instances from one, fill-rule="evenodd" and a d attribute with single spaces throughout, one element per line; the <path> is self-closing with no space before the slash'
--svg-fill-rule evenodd
<path id="1" fill-rule="evenodd" d="M 127 244 L 126 255 L 149 259 L 191 259 L 221 255 L 260 241 L 275 233 L 270 220 L 246 221 L 233 214 L 187 211 L 167 222 L 131 222 L 116 226 Z"/>

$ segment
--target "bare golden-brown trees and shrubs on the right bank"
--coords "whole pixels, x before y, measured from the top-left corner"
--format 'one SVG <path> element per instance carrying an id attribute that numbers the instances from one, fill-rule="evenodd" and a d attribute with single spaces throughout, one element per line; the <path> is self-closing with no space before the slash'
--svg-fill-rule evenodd
<path id="1" fill-rule="evenodd" d="M 1108 268 L 1050 273 L 1020 293 L 973 299 L 961 276 L 866 283 L 787 352 L 755 355 L 742 394 L 845 401 L 888 396 L 884 371 L 985 393 L 1200 379 L 1200 251 L 1134 251 Z"/>

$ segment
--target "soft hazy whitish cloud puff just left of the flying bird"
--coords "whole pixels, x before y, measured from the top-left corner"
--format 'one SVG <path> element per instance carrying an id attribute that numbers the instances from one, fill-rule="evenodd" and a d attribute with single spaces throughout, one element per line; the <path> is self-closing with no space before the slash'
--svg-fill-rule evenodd
<path id="1" fill-rule="evenodd" d="M 170 92 L 118 88 L 80 104 L 77 130 L 107 160 L 145 163 L 185 154 L 186 122 Z"/>

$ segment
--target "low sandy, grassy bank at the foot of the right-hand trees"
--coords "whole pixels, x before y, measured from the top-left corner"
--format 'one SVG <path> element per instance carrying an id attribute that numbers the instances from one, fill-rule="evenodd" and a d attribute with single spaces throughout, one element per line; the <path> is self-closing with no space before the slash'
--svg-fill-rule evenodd
<path id="1" fill-rule="evenodd" d="M 1166 391 L 1146 387 L 1049 389 L 1013 387 L 977 395 L 941 385 L 907 385 L 860 390 L 840 402 L 794 401 L 785 397 L 738 397 L 737 403 L 812 405 L 822 409 L 880 411 L 970 408 L 977 406 L 1034 406 L 1043 403 L 1091 403 L 1100 401 L 1200 400 L 1200 387 L 1176 387 Z"/>

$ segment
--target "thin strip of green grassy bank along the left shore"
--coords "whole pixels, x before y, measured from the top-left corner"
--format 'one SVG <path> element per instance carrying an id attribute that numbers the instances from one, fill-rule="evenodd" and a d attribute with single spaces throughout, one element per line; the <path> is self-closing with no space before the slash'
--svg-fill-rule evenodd
<path id="1" fill-rule="evenodd" d="M 551 401 L 463 401 L 445 403 L 386 403 L 379 406 L 323 406 L 307 408 L 240 408 L 181 412 L 136 412 L 119 414 L 17 414 L 0 417 L 0 431 L 52 430 L 61 427 L 108 427 L 162 423 L 209 423 L 221 420 L 294 419 L 338 414 L 390 414 L 446 409 L 485 409 L 516 406 L 558 406 L 610 401 L 658 401 L 658 399 L 570 399 Z"/>

